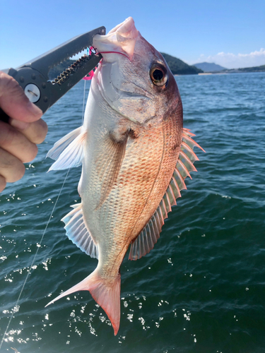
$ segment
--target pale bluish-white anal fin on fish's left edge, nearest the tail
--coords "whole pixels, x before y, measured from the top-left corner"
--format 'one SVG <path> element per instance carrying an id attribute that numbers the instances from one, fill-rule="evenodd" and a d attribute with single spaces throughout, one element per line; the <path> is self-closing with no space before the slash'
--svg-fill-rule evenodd
<path id="1" fill-rule="evenodd" d="M 65 223 L 66 235 L 79 249 L 90 255 L 91 258 L 98 258 L 98 246 L 94 243 L 88 233 L 83 220 L 82 203 L 71 206 L 71 210 L 61 220 Z"/>

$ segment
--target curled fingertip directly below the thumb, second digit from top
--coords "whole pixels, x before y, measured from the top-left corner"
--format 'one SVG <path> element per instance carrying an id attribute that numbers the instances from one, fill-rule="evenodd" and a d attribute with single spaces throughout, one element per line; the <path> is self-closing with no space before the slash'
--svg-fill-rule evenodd
<path id="1" fill-rule="evenodd" d="M 10 119 L 9 124 L 23 133 L 28 140 L 37 144 L 45 140 L 48 131 L 48 126 L 42 119 L 34 121 L 33 123 Z"/>

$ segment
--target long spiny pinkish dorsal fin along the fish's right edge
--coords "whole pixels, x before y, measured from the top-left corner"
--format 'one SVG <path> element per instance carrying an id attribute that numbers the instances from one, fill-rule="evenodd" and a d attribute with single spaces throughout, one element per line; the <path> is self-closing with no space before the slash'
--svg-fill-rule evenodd
<path id="1" fill-rule="evenodd" d="M 196 171 L 193 164 L 199 158 L 193 152 L 193 148 L 194 146 L 201 148 L 201 146 L 192 140 L 191 136 L 195 135 L 190 133 L 187 128 L 183 128 L 182 146 L 170 184 L 146 227 L 143 228 L 139 236 L 131 243 L 130 260 L 137 260 L 153 249 L 160 236 L 167 213 L 171 211 L 172 205 L 177 205 L 176 198 L 181 197 L 180 191 L 187 189 L 184 179 L 186 177 L 191 178 L 189 172 Z"/>

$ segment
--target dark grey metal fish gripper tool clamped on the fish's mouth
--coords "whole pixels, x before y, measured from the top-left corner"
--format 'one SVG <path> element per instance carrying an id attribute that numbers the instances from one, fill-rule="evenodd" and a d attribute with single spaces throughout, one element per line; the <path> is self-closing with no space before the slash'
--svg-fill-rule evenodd
<path id="1" fill-rule="evenodd" d="M 105 35 L 104 26 L 73 37 L 49 52 L 18 66 L 6 68 L 4 73 L 13 76 L 23 88 L 25 95 L 39 107 L 43 113 L 52 107 L 66 92 L 95 68 L 102 56 L 90 51 L 66 68 L 57 78 L 49 80 L 49 71 L 66 59 L 82 52 L 93 45 L 95 35 Z M 0 120 L 8 123 L 9 116 L 0 108 Z"/>

